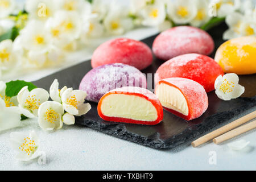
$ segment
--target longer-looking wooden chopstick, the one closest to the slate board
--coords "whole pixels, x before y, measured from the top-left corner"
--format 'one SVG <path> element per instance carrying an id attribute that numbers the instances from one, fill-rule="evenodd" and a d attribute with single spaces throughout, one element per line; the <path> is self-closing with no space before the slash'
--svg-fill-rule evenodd
<path id="1" fill-rule="evenodd" d="M 209 140 L 212 140 L 213 138 L 216 138 L 240 125 L 243 123 L 246 123 L 250 121 L 251 119 L 254 119 L 256 117 L 256 110 L 253 111 L 252 113 L 249 113 L 242 118 L 237 119 L 236 121 L 233 121 L 229 123 L 228 125 L 222 126 L 221 128 L 212 131 L 211 133 L 204 135 L 203 137 L 200 137 L 199 139 L 193 141 L 191 144 L 193 147 L 200 146 L 200 144 L 203 144 L 205 142 L 208 142 Z"/>

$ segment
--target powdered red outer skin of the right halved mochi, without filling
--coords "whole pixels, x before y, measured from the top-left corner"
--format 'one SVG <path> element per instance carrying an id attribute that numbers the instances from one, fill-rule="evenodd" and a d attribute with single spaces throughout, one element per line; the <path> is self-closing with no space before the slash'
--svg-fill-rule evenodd
<path id="1" fill-rule="evenodd" d="M 175 85 L 187 100 L 189 114 L 187 120 L 200 117 L 208 108 L 208 97 L 204 87 L 187 78 L 166 78 L 161 82 Z"/>

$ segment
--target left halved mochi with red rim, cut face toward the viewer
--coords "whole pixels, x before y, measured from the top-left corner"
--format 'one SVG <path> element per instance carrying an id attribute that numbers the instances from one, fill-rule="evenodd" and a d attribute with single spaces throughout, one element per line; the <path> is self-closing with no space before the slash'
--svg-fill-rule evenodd
<path id="1" fill-rule="evenodd" d="M 102 96 L 98 115 L 105 121 L 156 125 L 163 120 L 163 107 L 149 90 L 127 86 Z"/>

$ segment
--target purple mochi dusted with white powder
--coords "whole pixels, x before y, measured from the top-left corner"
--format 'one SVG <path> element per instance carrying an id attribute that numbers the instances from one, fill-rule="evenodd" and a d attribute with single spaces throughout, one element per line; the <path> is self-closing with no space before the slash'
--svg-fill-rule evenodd
<path id="1" fill-rule="evenodd" d="M 86 100 L 98 102 L 110 90 L 124 86 L 147 88 L 147 78 L 137 68 L 127 64 L 105 64 L 94 68 L 82 78 L 79 89 L 87 93 Z"/>

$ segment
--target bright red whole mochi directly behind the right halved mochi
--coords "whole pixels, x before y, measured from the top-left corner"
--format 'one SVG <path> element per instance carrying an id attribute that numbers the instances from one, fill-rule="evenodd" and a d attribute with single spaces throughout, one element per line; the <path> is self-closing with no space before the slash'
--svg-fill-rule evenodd
<path id="1" fill-rule="evenodd" d="M 199 82 L 206 92 L 210 92 L 214 90 L 214 82 L 219 75 L 224 75 L 224 72 L 212 58 L 189 53 L 174 57 L 160 65 L 156 71 L 155 83 L 164 78 L 188 78 Z"/>

